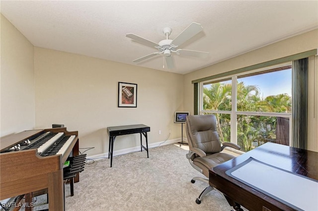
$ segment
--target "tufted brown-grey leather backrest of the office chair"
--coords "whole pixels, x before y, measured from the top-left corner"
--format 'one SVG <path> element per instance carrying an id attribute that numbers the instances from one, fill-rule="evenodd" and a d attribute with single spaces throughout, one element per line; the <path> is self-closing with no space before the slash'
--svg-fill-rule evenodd
<path id="1" fill-rule="evenodd" d="M 185 126 L 189 150 L 199 148 L 206 154 L 221 151 L 215 115 L 189 115 Z"/>

